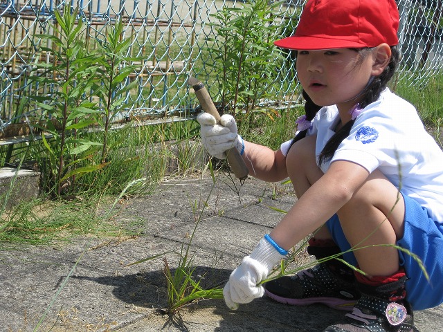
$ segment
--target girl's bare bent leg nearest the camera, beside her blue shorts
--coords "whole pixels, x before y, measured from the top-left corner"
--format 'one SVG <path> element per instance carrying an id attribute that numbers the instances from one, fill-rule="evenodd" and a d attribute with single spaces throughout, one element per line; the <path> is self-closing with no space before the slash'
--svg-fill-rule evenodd
<path id="1" fill-rule="evenodd" d="M 375 170 L 352 199 L 338 211 L 343 232 L 359 267 L 369 275 L 392 275 L 399 269 L 399 256 L 392 246 L 403 237 L 404 200 L 397 188 Z"/>

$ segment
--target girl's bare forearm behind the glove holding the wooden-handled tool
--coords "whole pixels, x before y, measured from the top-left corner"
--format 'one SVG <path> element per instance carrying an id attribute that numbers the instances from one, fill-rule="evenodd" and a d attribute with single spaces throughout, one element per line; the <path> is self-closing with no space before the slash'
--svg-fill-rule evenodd
<path id="1" fill-rule="evenodd" d="M 244 141 L 244 162 L 249 169 L 249 175 L 267 182 L 282 181 L 288 177 L 286 157 L 278 149 Z"/>

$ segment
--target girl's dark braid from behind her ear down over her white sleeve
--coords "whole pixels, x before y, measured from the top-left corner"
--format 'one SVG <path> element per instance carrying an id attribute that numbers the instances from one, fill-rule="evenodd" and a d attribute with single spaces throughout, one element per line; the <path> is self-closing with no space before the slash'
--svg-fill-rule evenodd
<path id="1" fill-rule="evenodd" d="M 363 50 L 359 50 L 359 52 L 362 51 Z M 372 82 L 370 82 L 370 84 L 368 84 L 368 86 L 366 86 L 366 88 L 363 90 L 363 98 L 359 102 L 359 108 L 364 109 L 372 102 L 375 102 L 377 99 L 379 99 L 381 92 L 386 89 L 386 86 L 394 75 L 397 69 L 397 64 L 399 63 L 399 52 L 397 51 L 397 47 L 392 46 L 391 52 L 392 55 L 390 57 L 390 62 L 388 66 L 386 66 L 383 73 L 381 73 L 379 76 L 374 76 Z M 318 156 L 319 165 L 325 163 L 327 160 L 331 160 L 336 149 L 338 149 L 338 146 L 345 138 L 347 138 L 347 136 L 349 136 L 354 122 L 355 120 L 346 122 L 346 124 L 344 124 L 341 129 L 338 129 L 334 136 L 327 141 L 325 147 Z"/>

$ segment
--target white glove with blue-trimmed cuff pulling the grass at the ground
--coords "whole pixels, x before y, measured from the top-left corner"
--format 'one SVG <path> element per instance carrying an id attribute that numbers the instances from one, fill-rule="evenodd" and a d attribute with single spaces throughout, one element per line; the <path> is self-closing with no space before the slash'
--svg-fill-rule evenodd
<path id="1" fill-rule="evenodd" d="M 283 257 L 269 241 L 260 240 L 251 255 L 244 257 L 242 264 L 233 270 L 223 288 L 224 302 L 228 308 L 236 310 L 239 303 L 249 303 L 262 297 L 264 288 L 257 284 L 269 275 Z"/>

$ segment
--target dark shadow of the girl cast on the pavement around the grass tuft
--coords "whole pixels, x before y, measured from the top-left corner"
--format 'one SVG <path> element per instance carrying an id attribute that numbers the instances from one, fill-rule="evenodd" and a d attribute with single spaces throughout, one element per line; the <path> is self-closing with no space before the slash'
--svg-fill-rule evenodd
<path id="1" fill-rule="evenodd" d="M 197 266 L 192 275 L 196 281 L 200 280 L 202 288 L 210 289 L 223 287 L 231 272 L 228 269 Z M 174 314 L 165 315 L 163 309 L 168 307 L 168 297 L 162 270 L 105 277 L 73 275 L 72 278 L 112 286 L 112 293 L 117 299 L 138 307 L 154 308 L 155 315 L 163 319 L 160 326 L 163 331 L 313 332 L 323 331 L 344 315 L 320 305 L 287 306 L 273 302 L 266 296 L 240 306 L 237 311 L 230 311 L 221 299 L 205 299 L 185 306 Z M 201 324 L 206 327 L 199 328 Z"/>

